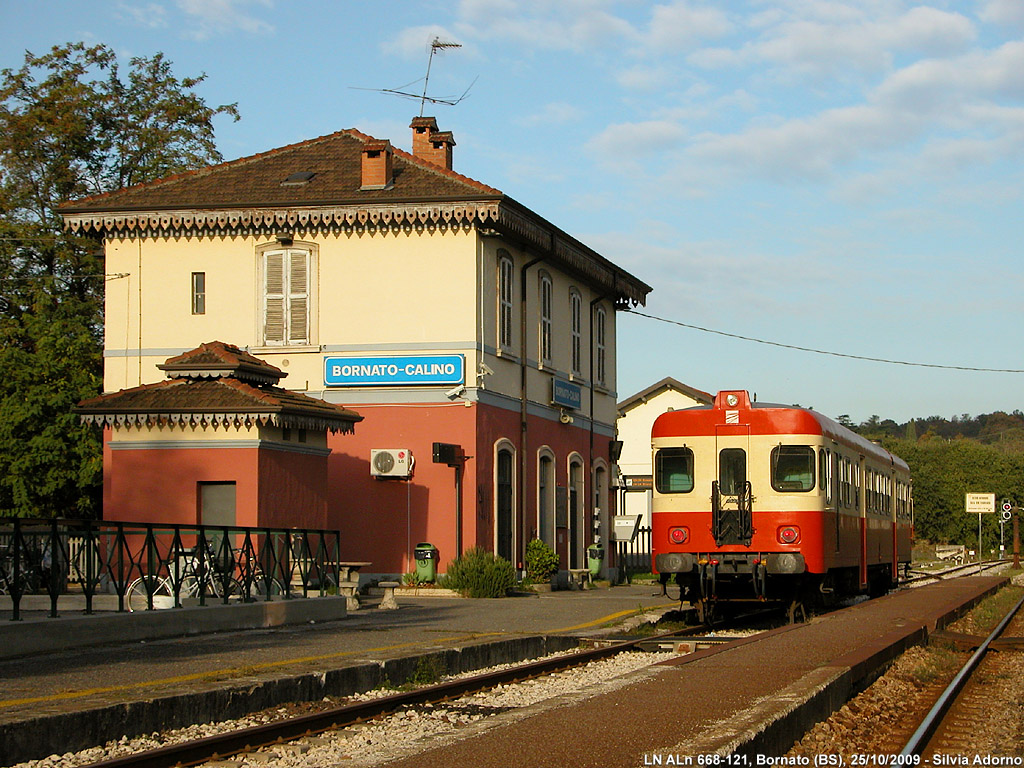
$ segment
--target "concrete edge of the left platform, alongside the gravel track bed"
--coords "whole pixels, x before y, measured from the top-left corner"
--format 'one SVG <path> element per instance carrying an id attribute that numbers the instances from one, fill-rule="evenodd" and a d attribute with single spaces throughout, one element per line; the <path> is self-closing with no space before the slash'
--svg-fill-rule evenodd
<path id="1" fill-rule="evenodd" d="M 199 722 L 230 720 L 293 701 L 347 696 L 384 685 L 399 686 L 424 664 L 459 674 L 568 650 L 569 635 L 535 635 L 444 648 L 276 679 L 236 680 L 213 690 L 189 691 L 144 701 L 115 703 L 0 725 L 3 765 L 88 749 Z"/>

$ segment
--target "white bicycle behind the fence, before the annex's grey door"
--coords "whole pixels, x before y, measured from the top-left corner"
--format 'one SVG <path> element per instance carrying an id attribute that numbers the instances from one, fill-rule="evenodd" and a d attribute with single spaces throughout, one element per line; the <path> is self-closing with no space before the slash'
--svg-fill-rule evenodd
<path id="1" fill-rule="evenodd" d="M 222 600 L 242 595 L 242 585 L 227 568 L 216 567 L 216 559 L 209 547 L 203 561 L 197 557 L 195 549 L 178 553 L 169 565 L 170 573 L 159 577 L 152 573 L 141 575 L 125 590 L 125 604 L 129 611 L 145 610 L 153 599 L 154 609 L 173 608 L 181 600 L 210 595 Z M 233 570 L 233 567 L 231 567 Z"/>

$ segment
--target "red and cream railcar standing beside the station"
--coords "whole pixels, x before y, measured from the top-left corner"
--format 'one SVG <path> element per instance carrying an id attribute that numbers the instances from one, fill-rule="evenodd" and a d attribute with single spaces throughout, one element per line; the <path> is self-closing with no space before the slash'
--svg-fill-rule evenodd
<path id="1" fill-rule="evenodd" d="M 651 446 L 654 570 L 701 617 L 883 594 L 910 561 L 906 463 L 820 414 L 723 391 L 659 416 Z"/>

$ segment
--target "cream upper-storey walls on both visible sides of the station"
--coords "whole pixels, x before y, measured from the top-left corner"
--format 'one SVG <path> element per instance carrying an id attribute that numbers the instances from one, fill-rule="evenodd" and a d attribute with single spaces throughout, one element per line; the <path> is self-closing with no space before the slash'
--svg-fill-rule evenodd
<path id="1" fill-rule="evenodd" d="M 308 347 L 259 346 L 260 247 L 268 237 L 113 240 L 106 245 L 106 272 L 124 274 L 106 284 L 104 390 L 116 391 L 162 381 L 157 366 L 203 342 L 224 341 L 248 347 L 285 371 L 282 386 L 318 392 L 324 388 L 328 354 L 431 352 L 466 355 L 466 385 L 477 386 L 477 341 L 495 372 L 483 379 L 494 392 L 518 398 L 520 390 L 520 286 L 523 264 L 534 255 L 502 238 L 476 230 L 387 231 L 295 234 L 295 246 L 314 246 L 316 344 Z M 514 263 L 513 355 L 498 347 L 498 250 Z M 539 362 L 539 270 L 552 278 L 552 371 Z M 206 273 L 206 313 L 191 314 L 191 273 Z M 481 282 L 477 282 L 477 274 Z M 583 299 L 582 376 L 570 377 L 569 290 Z M 590 415 L 590 362 L 593 352 L 589 314 L 596 294 L 548 262 L 526 272 L 527 388 L 531 401 L 549 404 L 553 375 L 583 388 L 579 412 Z M 595 419 L 615 419 L 615 312 L 606 312 L 607 381 L 595 396 Z M 451 344 L 464 343 L 453 349 Z M 431 344 L 444 346 L 432 348 Z M 343 351 L 332 347 L 345 347 Z M 366 347 L 352 349 L 353 346 Z M 406 348 L 402 348 L 406 347 Z M 142 350 L 141 354 L 139 350 Z"/>

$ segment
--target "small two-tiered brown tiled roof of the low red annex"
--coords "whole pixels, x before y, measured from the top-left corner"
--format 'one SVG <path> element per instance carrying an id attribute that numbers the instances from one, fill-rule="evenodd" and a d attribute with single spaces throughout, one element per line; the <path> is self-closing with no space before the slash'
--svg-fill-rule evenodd
<path id="1" fill-rule="evenodd" d="M 172 378 L 83 400 L 75 413 L 100 426 L 269 424 L 352 432 L 362 421 L 342 406 L 273 386 L 283 372 L 223 342 L 203 344 L 160 368 Z"/>

